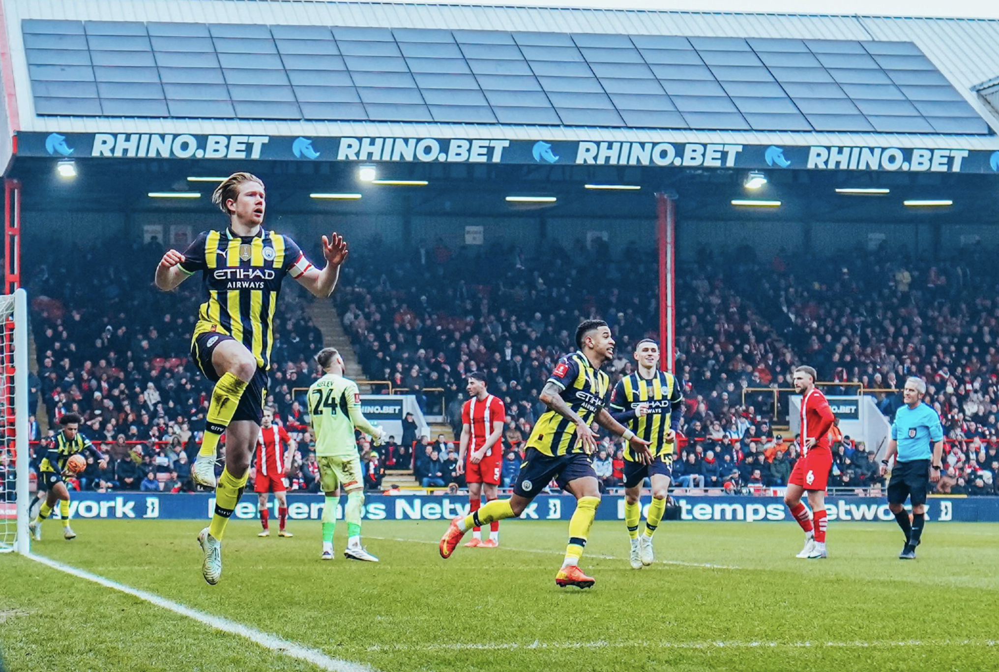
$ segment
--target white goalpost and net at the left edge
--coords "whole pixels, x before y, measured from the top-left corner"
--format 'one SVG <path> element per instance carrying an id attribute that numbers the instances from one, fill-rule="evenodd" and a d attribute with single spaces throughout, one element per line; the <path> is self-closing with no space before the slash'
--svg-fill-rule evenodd
<path id="1" fill-rule="evenodd" d="M 27 553 L 28 320 L 23 289 L 0 296 L 0 553 Z"/>

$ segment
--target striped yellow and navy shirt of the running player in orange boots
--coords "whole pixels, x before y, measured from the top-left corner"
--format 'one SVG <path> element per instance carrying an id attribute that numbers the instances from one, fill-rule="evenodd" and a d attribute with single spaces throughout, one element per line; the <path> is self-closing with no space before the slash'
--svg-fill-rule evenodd
<path id="1" fill-rule="evenodd" d="M 610 378 L 594 369 L 581 352 L 559 358 L 547 382 L 561 388 L 559 396 L 587 425 L 593 424 L 596 413 L 606 406 Z M 554 411 L 545 411 L 537 419 L 527 439 L 527 447 L 552 457 L 585 452 L 576 441 L 575 424 Z"/>

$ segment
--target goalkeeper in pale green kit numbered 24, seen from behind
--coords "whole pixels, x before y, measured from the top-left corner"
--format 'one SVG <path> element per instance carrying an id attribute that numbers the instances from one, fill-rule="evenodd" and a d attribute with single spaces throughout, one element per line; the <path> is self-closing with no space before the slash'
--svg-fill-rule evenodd
<path id="1" fill-rule="evenodd" d="M 350 560 L 378 562 L 361 545 L 361 508 L 365 504 L 361 455 L 354 440 L 354 429 L 372 437 L 375 445 L 386 437 L 382 427 L 375 427 L 361 412 L 358 384 L 344 377 L 344 360 L 336 348 L 323 348 L 316 361 L 325 374 L 309 388 L 309 422 L 316 437 L 320 487 L 326 494 L 323 508 L 323 559 L 333 560 L 333 531 L 337 525 L 337 488 L 347 493 L 347 550 Z"/>

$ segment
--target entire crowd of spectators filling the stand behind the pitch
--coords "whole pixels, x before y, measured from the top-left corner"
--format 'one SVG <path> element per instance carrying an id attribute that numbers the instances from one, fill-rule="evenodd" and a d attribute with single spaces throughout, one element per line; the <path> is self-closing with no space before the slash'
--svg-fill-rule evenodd
<path id="1" fill-rule="evenodd" d="M 202 301 L 199 283 L 170 294 L 156 290 L 150 269 L 163 252 L 156 241 L 128 254 L 117 242 L 85 249 L 48 241 L 29 248 L 25 268 L 38 366 L 30 412 L 34 416 L 43 399 L 50 426 L 61 413 L 78 412 L 84 432 L 114 454 L 115 473 L 88 467 L 83 487 L 144 487 L 150 464 L 161 487 L 175 480 L 186 487 L 185 463 L 210 392 L 188 356 Z M 452 250 L 437 241 L 398 250 L 385 264 L 386 244 L 359 246 L 335 294 L 366 377 L 416 394 L 426 413 L 452 423 L 456 436 L 465 376 L 487 373 L 490 392 L 503 399 L 507 412 L 504 483 L 515 477 L 516 449 L 545 410 L 537 400 L 543 381 L 557 357 L 574 349 L 575 324 L 599 317 L 614 330 L 612 383 L 633 370 L 630 344 L 657 331 L 656 283 L 634 281 L 656 277 L 647 247 L 630 243 L 613 255 L 597 238 L 589 246 L 576 242 L 566 249 L 546 241 L 535 249 Z M 128 264 L 120 263 L 123 258 Z M 859 384 L 897 388 L 908 375 L 922 376 L 950 441 L 941 487 L 993 489 L 999 474 L 999 463 L 993 464 L 999 269 L 988 255 L 971 250 L 931 263 L 853 250 L 803 266 L 791 259 L 781 253 L 760 261 L 745 247 L 704 249 L 681 265 L 676 369 L 685 402 L 677 483 L 741 491 L 786 482 L 796 447 L 786 432 L 772 430 L 782 418 L 779 408 L 774 414 L 770 390 L 789 388 L 792 367 L 807 362 L 820 379 L 841 383 L 827 390 L 832 392 L 852 392 Z M 316 487 L 315 467 L 305 411 L 292 390 L 315 375 L 311 358 L 322 334 L 303 297 L 289 288 L 279 304 L 269 401 L 303 441 L 299 482 L 292 480 L 309 489 Z M 889 417 L 901 403 L 893 392 L 878 398 Z M 371 487 L 381 487 L 387 468 L 410 467 L 428 486 L 461 485 L 455 447 L 441 444 L 435 451 L 430 441 L 414 446 L 416 438 L 403 436 L 370 451 Z M 602 449 L 598 473 L 613 487 L 621 473 L 617 446 L 607 441 Z M 878 483 L 868 451 L 848 439 L 840 450 L 836 485 Z M 181 453 L 187 453 L 185 463 Z M 124 476 L 117 473 L 119 463 Z"/>

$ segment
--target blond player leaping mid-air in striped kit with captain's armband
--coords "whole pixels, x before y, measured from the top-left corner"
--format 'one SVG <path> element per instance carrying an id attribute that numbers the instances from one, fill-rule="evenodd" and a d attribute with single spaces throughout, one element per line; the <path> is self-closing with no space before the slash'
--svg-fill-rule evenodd
<path id="1" fill-rule="evenodd" d="M 246 486 L 260 435 L 282 281 L 291 276 L 314 296 L 330 296 L 348 251 L 341 236 L 323 236 L 326 267 L 319 270 L 290 237 L 264 229 L 264 183 L 250 173 L 226 178 L 212 202 L 229 218 L 229 226 L 202 232 L 184 254 L 168 250 L 156 268 L 156 286 L 170 291 L 201 272 L 208 292 L 198 311 L 191 356 L 215 388 L 191 476 L 206 487 L 217 486 L 212 523 L 198 535 L 202 575 L 215 585 L 222 576 L 222 536 Z M 216 484 L 215 459 L 223 433 L 226 467 Z"/>

